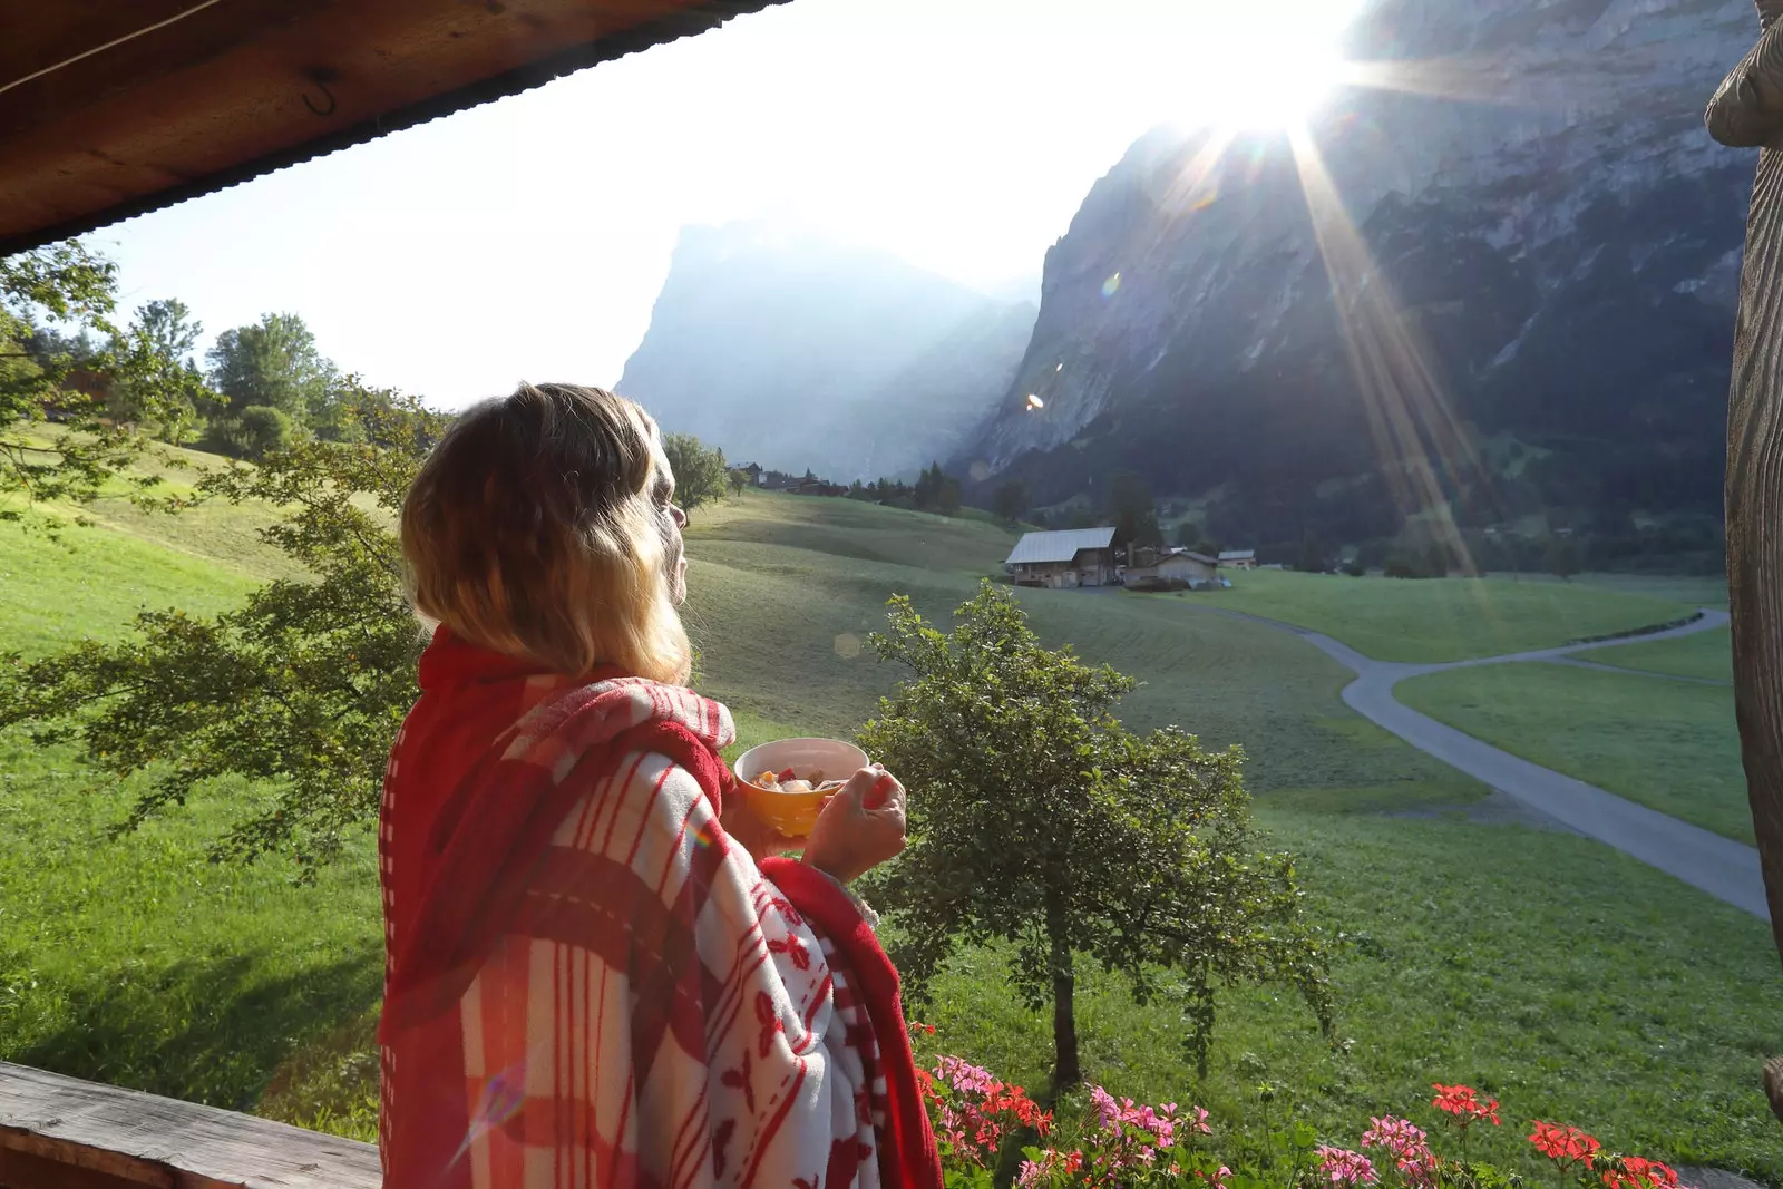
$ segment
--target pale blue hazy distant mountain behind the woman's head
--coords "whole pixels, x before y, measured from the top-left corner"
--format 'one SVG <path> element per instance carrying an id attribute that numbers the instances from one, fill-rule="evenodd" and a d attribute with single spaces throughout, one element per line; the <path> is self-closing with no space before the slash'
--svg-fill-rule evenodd
<path id="1" fill-rule="evenodd" d="M 797 228 L 692 226 L 619 390 L 733 462 L 899 476 L 965 446 L 1034 316 Z"/>

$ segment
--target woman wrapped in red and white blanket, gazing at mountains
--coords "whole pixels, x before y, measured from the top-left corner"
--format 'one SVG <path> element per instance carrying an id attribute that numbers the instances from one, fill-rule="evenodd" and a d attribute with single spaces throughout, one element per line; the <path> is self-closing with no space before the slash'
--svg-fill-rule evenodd
<path id="1" fill-rule="evenodd" d="M 390 1189 L 940 1185 L 845 890 L 904 790 L 856 774 L 809 840 L 749 813 L 681 688 L 685 524 L 644 410 L 569 385 L 471 408 L 408 492 L 439 626 L 380 822 Z"/>

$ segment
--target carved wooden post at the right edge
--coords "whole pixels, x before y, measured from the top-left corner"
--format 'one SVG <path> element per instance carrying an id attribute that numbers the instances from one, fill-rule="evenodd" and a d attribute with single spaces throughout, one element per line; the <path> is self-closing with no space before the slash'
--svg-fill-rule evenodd
<path id="1" fill-rule="evenodd" d="M 1756 148 L 1728 392 L 1728 592 L 1746 793 L 1783 955 L 1783 0 L 1758 0 L 1760 37 L 1708 105 L 1722 144 Z M 1783 1119 L 1783 1059 L 1765 1068 Z"/>

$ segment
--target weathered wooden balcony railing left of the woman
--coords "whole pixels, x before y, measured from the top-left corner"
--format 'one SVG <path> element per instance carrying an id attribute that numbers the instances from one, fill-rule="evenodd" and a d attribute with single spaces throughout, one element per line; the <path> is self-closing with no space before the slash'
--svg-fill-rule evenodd
<path id="1" fill-rule="evenodd" d="M 0 1061 L 0 1185 L 53 1162 L 66 1180 L 23 1189 L 378 1189 L 378 1150 L 250 1114 L 100 1086 Z M 87 1177 L 82 1178 L 80 1173 Z"/>

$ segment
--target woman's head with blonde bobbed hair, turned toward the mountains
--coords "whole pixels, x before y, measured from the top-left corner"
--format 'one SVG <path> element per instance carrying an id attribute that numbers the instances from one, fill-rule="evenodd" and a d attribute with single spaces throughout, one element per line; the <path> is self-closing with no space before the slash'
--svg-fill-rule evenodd
<path id="1" fill-rule="evenodd" d="M 603 389 L 522 383 L 465 410 L 403 501 L 415 613 L 553 672 L 685 683 L 660 456 L 649 414 Z"/>

